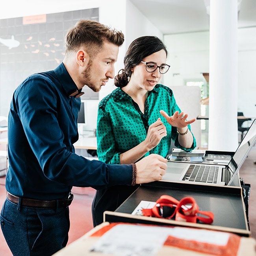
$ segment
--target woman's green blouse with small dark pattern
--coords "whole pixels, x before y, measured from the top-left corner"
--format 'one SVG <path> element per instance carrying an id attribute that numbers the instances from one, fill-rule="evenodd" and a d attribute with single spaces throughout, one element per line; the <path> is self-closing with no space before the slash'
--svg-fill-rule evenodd
<path id="1" fill-rule="evenodd" d="M 148 127 L 156 122 L 158 117 L 166 126 L 167 136 L 163 137 L 160 143 L 147 152 L 145 156 L 159 154 L 166 157 L 170 149 L 171 139 L 173 139 L 176 147 L 186 151 L 193 150 L 196 147 L 194 135 L 191 148 L 186 149 L 180 146 L 176 127 L 172 127 L 165 120 L 159 112 L 161 109 L 169 116 L 172 116 L 177 110 L 180 111 L 173 91 L 161 84 L 157 84 L 152 91 L 148 91 L 144 114 L 137 103 L 121 88 L 115 89 L 106 96 L 98 107 L 97 154 L 99 160 L 120 164 L 120 154 L 144 141 L 147 137 Z"/>

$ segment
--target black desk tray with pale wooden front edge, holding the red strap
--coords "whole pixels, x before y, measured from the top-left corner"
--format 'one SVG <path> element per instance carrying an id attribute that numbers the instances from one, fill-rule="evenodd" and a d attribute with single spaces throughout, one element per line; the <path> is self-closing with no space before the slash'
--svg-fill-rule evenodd
<path id="1" fill-rule="evenodd" d="M 104 221 L 190 226 L 232 232 L 239 234 L 239 236 L 250 236 L 241 191 L 241 187 L 182 184 L 164 181 L 141 184 L 115 211 L 105 211 Z M 179 201 L 184 197 L 193 197 L 201 211 L 211 211 L 214 214 L 213 223 L 210 225 L 200 222 L 188 223 L 175 221 L 174 219 L 160 219 L 132 214 L 141 200 L 156 202 L 161 195 L 169 195 Z"/>

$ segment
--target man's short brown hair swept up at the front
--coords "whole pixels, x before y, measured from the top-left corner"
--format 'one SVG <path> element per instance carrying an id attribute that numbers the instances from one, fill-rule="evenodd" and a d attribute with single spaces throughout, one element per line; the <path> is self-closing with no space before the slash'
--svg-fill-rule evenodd
<path id="1" fill-rule="evenodd" d="M 94 20 L 79 20 L 65 37 L 66 53 L 76 51 L 82 45 L 92 56 L 102 47 L 104 41 L 121 46 L 124 34 Z"/>

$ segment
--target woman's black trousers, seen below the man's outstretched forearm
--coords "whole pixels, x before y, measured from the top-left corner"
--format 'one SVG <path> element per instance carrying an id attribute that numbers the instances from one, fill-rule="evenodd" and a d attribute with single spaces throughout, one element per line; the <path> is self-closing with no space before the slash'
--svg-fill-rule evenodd
<path id="1" fill-rule="evenodd" d="M 93 226 L 103 222 L 104 211 L 115 211 L 138 187 L 117 185 L 97 190 L 92 204 Z"/>

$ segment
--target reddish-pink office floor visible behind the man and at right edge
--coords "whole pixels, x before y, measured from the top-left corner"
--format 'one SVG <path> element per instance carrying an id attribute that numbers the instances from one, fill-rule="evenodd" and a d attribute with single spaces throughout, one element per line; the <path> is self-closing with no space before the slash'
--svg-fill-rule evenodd
<path id="1" fill-rule="evenodd" d="M 245 183 L 251 184 L 251 191 L 249 197 L 249 222 L 251 236 L 256 239 L 256 147 L 252 148 L 249 156 L 243 163 L 240 169 L 240 177 L 243 177 Z M 6 190 L 4 187 L 5 178 L 0 178 L 0 208 L 6 197 Z M 93 228 L 91 203 L 95 195 L 95 189 L 74 187 L 72 189 L 74 200 L 70 206 L 70 231 L 69 242 L 78 239 L 87 231 Z M 0 255 L 11 256 L 11 252 L 0 231 Z"/>

